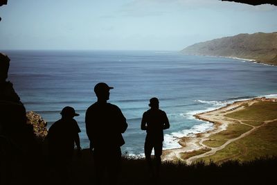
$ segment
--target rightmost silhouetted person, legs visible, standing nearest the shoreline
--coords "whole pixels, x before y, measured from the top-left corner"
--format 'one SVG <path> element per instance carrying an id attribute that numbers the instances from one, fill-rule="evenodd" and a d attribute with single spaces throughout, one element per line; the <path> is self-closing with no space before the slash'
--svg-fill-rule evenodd
<path id="1" fill-rule="evenodd" d="M 144 145 L 145 159 L 148 162 L 152 175 L 154 175 L 151 161 L 151 152 L 154 148 L 156 173 L 159 175 L 163 150 L 163 130 L 168 129 L 170 124 L 166 112 L 159 109 L 158 98 L 151 98 L 149 106 L 151 108 L 143 113 L 143 118 L 141 120 L 141 130 L 146 130 L 147 132 Z"/>

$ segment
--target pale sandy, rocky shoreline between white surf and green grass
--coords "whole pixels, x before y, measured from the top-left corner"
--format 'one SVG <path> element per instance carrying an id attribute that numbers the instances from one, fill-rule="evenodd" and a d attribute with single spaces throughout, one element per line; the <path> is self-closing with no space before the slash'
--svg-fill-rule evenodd
<path id="1" fill-rule="evenodd" d="M 188 157 L 188 159 L 182 159 L 181 156 L 184 153 L 193 153 L 197 150 L 206 151 L 208 147 L 205 146 L 203 142 L 208 140 L 208 136 L 211 136 L 212 134 L 216 134 L 218 132 L 222 132 L 227 129 L 228 125 L 230 125 L 231 123 L 234 123 L 234 120 L 232 118 L 228 118 L 225 116 L 226 114 L 237 112 L 239 110 L 244 109 L 245 107 L 249 107 L 253 105 L 253 103 L 257 103 L 260 101 L 277 102 L 277 97 L 274 97 L 274 98 L 257 97 L 257 98 L 252 98 L 248 100 L 238 100 L 224 107 L 220 107 L 218 109 L 213 109 L 208 112 L 202 112 L 202 113 L 193 115 L 195 116 L 195 118 L 199 120 L 213 123 L 214 125 L 213 130 L 199 133 L 199 134 L 196 134 L 195 136 L 183 136 L 179 138 L 179 144 L 181 145 L 181 148 L 163 150 L 163 156 L 162 156 L 163 161 L 184 161 L 188 164 L 191 164 L 193 159 L 197 158 L 195 157 L 196 155 L 191 155 L 190 157 Z M 209 151 L 204 153 L 209 153 Z M 214 153 L 208 154 L 206 156 L 213 155 Z"/>

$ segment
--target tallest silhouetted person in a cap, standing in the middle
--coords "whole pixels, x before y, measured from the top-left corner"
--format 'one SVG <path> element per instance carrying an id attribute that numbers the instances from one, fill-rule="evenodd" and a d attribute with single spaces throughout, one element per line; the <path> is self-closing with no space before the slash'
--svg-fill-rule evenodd
<path id="1" fill-rule="evenodd" d="M 114 88 L 103 82 L 98 83 L 94 87 L 98 100 L 86 112 L 87 136 L 93 150 L 97 184 L 104 179 L 108 179 L 109 184 L 117 183 L 121 159 L 120 146 L 125 143 L 121 133 L 127 129 L 126 118 L 121 110 L 116 105 L 107 103 L 109 89 Z"/>

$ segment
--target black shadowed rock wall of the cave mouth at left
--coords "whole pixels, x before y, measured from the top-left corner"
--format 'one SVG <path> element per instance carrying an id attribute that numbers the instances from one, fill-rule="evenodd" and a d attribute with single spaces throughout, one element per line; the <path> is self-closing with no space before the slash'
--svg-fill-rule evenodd
<path id="1" fill-rule="evenodd" d="M 26 109 L 19 96 L 7 82 L 10 58 L 0 53 L 0 134 L 19 148 L 24 155 L 35 150 L 33 126 L 27 125 Z"/>

